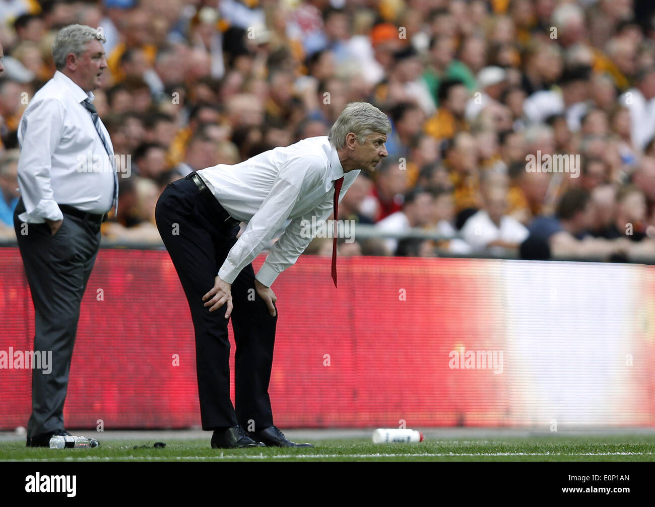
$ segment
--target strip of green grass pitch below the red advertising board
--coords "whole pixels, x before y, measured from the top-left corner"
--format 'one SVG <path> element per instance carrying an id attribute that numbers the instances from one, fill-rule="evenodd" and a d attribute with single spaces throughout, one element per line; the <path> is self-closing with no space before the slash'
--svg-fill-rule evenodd
<path id="1" fill-rule="evenodd" d="M 209 439 L 99 439 L 96 449 L 39 449 L 0 443 L 0 461 L 655 461 L 652 435 L 548 435 L 373 444 L 364 438 L 314 440 L 313 449 L 212 449 Z M 304 442 L 304 440 L 301 440 Z M 147 445 L 148 448 L 134 448 Z"/>

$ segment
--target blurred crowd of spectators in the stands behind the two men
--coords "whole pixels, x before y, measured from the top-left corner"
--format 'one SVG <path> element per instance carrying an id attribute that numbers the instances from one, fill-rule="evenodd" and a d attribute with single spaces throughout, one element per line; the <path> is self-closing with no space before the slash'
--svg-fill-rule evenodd
<path id="1" fill-rule="evenodd" d="M 54 73 L 56 31 L 80 23 L 102 27 L 95 104 L 131 156 L 106 239 L 160 244 L 168 183 L 327 135 L 369 101 L 392 121 L 389 155 L 339 219 L 441 239 L 340 239 L 341 255 L 655 258 L 654 14 L 636 0 L 0 1 L 0 237 L 15 237 L 22 111 Z M 579 165 L 529 170 L 557 154 Z"/>

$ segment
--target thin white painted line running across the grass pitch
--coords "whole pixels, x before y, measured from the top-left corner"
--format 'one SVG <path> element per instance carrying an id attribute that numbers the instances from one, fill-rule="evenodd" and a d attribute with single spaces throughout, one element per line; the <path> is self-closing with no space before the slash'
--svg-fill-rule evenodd
<path id="1" fill-rule="evenodd" d="M 106 457 L 106 456 L 86 456 L 83 458 L 64 457 L 61 459 L 7 459 L 0 461 L 181 461 L 181 460 L 220 460 L 220 459 L 290 459 L 290 458 L 403 458 L 403 457 L 494 457 L 494 456 L 650 456 L 652 453 L 633 453 L 633 452 L 614 452 L 614 453 L 376 453 L 376 454 L 277 454 L 277 455 L 220 455 L 220 456 L 125 456 L 125 457 Z"/>

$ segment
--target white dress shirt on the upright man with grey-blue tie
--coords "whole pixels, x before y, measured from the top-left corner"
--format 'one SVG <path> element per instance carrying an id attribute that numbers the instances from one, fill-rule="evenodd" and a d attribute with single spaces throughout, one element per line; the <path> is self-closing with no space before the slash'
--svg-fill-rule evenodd
<path id="1" fill-rule="evenodd" d="M 26 209 L 18 218 L 23 222 L 61 220 L 58 203 L 99 215 L 113 206 L 114 169 L 82 104 L 87 97 L 94 99 L 56 71 L 29 101 L 18 125 L 18 186 Z M 102 129 L 113 156 L 109 132 Z"/>

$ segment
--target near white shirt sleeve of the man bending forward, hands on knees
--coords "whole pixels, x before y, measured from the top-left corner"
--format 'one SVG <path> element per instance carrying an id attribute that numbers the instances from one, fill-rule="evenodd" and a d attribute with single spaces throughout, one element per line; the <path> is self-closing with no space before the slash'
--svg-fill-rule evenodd
<path id="1" fill-rule="evenodd" d="M 222 280 L 233 283 L 241 270 L 269 244 L 301 198 L 303 186 L 311 179 L 315 169 L 322 169 L 321 166 L 322 160 L 318 156 L 295 158 L 285 163 L 271 192 L 227 254 L 218 271 Z"/>

